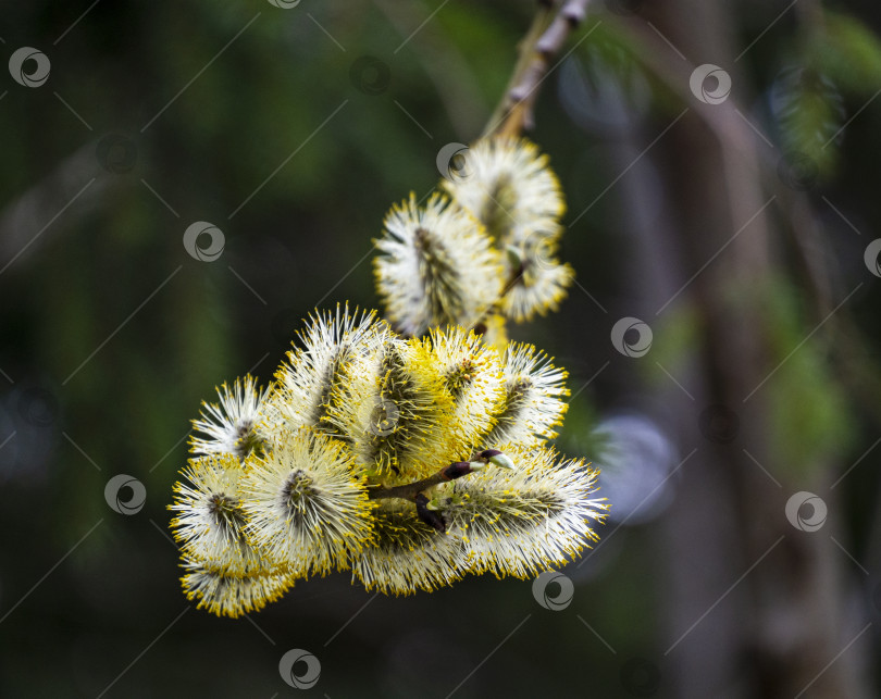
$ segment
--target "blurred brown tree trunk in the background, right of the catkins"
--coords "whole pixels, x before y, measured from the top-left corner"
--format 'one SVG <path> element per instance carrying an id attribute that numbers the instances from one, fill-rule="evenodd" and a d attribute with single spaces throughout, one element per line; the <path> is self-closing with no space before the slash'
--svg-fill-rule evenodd
<path id="1" fill-rule="evenodd" d="M 736 72 L 732 10 L 721 0 L 667 0 L 646 3 L 642 14 L 691 63 L 683 63 L 685 85 L 692 66 L 715 63 L 731 74 L 732 95 L 743 97 L 748 91 Z M 675 415 L 682 455 L 698 449 L 681 467 L 678 500 L 666 517 L 671 611 L 661 674 L 674 696 L 686 699 L 795 697 L 808 686 L 803 696 L 864 697 L 860 645 L 842 652 L 861 624 L 846 619 L 836 560 L 844 553 L 830 537 L 841 540 L 834 528 L 840 508 L 829 490 L 829 474 L 841 464 L 818 455 L 823 462 L 802 464 L 798 472 L 807 475 L 787 482 L 784 464 L 770 462 L 767 391 L 744 402 L 778 363 L 762 328 L 762 300 L 748 291 L 783 270 L 772 223 L 780 210 L 777 202 L 762 209 L 770 194 L 760 185 L 753 137 L 744 135 L 733 109 L 690 101 L 690 112 L 653 153 L 661 161 L 670 221 L 636 225 L 634 272 L 645 320 L 659 328 L 688 304 L 699 328 L 693 354 L 678 367 L 694 400 L 672 383 L 659 396 L 666 414 Z M 714 121 L 727 122 L 734 138 L 720 139 L 700 110 L 719 110 Z M 633 201 L 640 201 L 637 173 L 626 185 Z M 811 329 L 805 327 L 803 337 Z M 717 417 L 735 432 L 739 424 L 735 439 L 708 439 L 699 428 L 711 407 L 731 411 Z M 787 522 L 786 500 L 798 490 L 822 494 L 830 512 L 826 528 L 799 532 Z"/>

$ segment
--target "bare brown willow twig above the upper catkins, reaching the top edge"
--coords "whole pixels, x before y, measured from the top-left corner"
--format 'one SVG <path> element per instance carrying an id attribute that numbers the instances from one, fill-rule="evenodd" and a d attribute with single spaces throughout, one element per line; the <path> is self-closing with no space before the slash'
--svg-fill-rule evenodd
<path id="1" fill-rule="evenodd" d="M 567 38 L 586 16 L 590 0 L 566 0 L 555 12 L 554 0 L 539 2 L 538 12 L 526 36 L 520 42 L 520 58 L 489 123 L 488 136 L 519 136 L 534 126 L 534 107 L 550 60 L 559 53 Z"/>

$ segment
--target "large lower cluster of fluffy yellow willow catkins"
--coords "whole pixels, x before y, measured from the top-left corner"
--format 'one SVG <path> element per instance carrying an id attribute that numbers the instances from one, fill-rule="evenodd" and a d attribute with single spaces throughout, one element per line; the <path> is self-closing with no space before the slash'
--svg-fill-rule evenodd
<path id="1" fill-rule="evenodd" d="M 458 326 L 404 338 L 337 308 L 275 376 L 220 388 L 194 421 L 170 509 L 200 608 L 238 616 L 333 570 L 397 595 L 522 577 L 596 538 L 596 473 L 546 445 L 566 373 L 532 346 L 501 355 Z"/>

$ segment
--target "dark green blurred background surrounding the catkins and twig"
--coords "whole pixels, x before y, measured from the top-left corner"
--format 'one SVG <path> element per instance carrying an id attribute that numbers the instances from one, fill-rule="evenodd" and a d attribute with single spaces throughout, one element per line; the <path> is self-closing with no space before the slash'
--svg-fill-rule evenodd
<path id="1" fill-rule="evenodd" d="M 237 621 L 179 589 L 188 421 L 270 378 L 315 305 L 376 305 L 383 215 L 482 132 L 533 5 L 0 7 L 4 66 L 51 62 L 0 76 L 0 696 L 289 696 L 294 648 L 333 699 L 877 696 L 876 4 L 596 2 L 554 61 L 531 137 L 579 286 L 510 333 L 569 370 L 559 445 L 606 470 L 571 602 L 337 574 Z M 690 89 L 706 63 L 732 78 L 718 104 Z M 199 221 L 213 262 L 182 242 Z M 610 341 L 624 316 L 644 357 Z M 116 474 L 140 511 L 108 505 Z M 787 521 L 799 491 L 821 528 Z"/>

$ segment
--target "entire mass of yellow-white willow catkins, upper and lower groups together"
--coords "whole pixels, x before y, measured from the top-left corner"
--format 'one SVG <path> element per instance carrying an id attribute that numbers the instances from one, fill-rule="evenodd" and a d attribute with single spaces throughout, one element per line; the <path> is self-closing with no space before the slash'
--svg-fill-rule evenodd
<path id="1" fill-rule="evenodd" d="M 487 162 L 549 173 L 531 148 L 479 145 L 467 157 L 488 160 L 447 183 L 456 201 L 389 214 L 376 270 L 395 329 L 375 312 L 317 312 L 268 388 L 247 376 L 203 404 L 170 505 L 199 607 L 238 616 L 333 570 L 405 595 L 467 573 L 529 577 L 596 539 L 597 472 L 549 444 L 566 372 L 472 329 L 550 308 L 564 286 L 548 262 L 562 208 L 553 175 L 522 191 L 504 178 L 485 196 L 467 187 L 486 185 Z"/>

